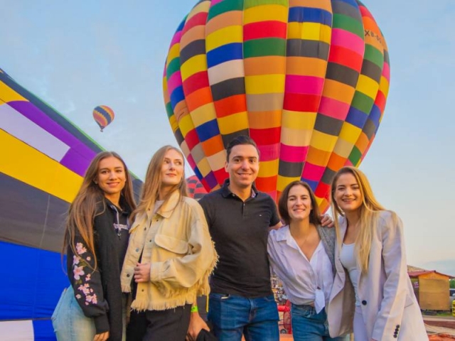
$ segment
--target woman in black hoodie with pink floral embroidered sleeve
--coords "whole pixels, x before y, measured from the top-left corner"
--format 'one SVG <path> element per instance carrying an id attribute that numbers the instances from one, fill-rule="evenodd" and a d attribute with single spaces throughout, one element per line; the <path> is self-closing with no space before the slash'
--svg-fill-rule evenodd
<path id="1" fill-rule="evenodd" d="M 136 207 L 132 179 L 117 153 L 103 151 L 87 168 L 70 205 L 63 249 L 68 278 L 53 314 L 58 340 L 124 340 L 125 301 L 120 271 Z"/>

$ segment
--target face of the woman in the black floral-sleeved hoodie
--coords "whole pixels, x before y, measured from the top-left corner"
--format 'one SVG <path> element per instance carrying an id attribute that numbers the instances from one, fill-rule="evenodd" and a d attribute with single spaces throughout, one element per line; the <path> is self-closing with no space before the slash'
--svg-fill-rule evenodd
<path id="1" fill-rule="evenodd" d="M 126 181 L 127 175 L 122 161 L 114 156 L 103 158 L 100 161 L 95 183 L 100 186 L 105 197 L 116 205 L 118 205 L 120 193 L 122 193 Z"/>

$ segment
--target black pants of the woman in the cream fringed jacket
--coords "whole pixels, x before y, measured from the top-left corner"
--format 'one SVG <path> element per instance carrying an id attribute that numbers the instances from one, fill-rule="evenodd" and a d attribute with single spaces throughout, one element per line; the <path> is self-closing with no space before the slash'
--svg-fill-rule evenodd
<path id="1" fill-rule="evenodd" d="M 184 341 L 190 314 L 191 304 L 167 310 L 132 311 L 127 341 Z"/>

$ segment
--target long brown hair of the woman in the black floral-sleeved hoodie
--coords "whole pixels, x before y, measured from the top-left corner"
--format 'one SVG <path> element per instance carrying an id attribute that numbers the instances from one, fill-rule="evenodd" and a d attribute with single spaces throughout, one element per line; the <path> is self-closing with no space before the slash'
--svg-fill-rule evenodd
<path id="1" fill-rule="evenodd" d="M 100 186 L 97 185 L 95 181 L 97 180 L 100 162 L 105 158 L 110 157 L 117 158 L 122 162 L 126 182 L 124 188 L 122 189 L 121 195 L 124 197 L 124 200 L 126 200 L 131 210 L 134 210 L 136 208 L 136 202 L 134 202 L 133 195 L 132 179 L 131 175 L 129 175 L 126 163 L 124 163 L 119 154 L 115 153 L 114 151 L 102 151 L 101 153 L 98 153 L 95 158 L 93 158 L 92 162 L 87 168 L 87 171 L 85 171 L 82 185 L 80 186 L 79 192 L 77 192 L 75 199 L 70 205 L 65 224 L 65 237 L 62 250 L 63 253 L 69 246 L 73 250 L 73 253 L 77 254 L 75 246 L 75 235 L 80 234 L 80 237 L 82 237 L 84 243 L 88 247 L 89 251 L 92 252 L 95 258 L 94 270 L 97 269 L 97 257 L 95 253 L 95 240 L 93 237 L 93 221 L 95 219 L 95 215 L 101 215 L 106 209 L 106 207 L 104 207 L 102 212 L 97 212 L 97 206 L 100 204 L 100 202 L 105 205 L 105 202 L 103 200 L 105 195 Z"/>

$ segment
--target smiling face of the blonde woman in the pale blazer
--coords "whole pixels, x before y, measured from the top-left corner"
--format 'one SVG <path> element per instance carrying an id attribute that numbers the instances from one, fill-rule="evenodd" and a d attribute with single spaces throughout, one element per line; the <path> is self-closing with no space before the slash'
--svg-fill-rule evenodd
<path id="1" fill-rule="evenodd" d="M 358 210 L 363 204 L 360 186 L 352 173 L 343 173 L 338 177 L 333 197 L 336 205 L 347 213 Z"/>

